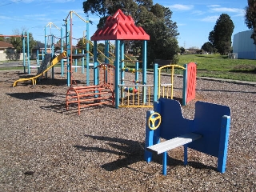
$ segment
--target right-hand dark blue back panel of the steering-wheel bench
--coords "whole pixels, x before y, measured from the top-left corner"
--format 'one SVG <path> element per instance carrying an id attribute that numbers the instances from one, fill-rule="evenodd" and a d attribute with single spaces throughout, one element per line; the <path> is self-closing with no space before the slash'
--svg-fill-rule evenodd
<path id="1" fill-rule="evenodd" d="M 230 108 L 207 102 L 196 102 L 194 133 L 202 138 L 188 144 L 188 147 L 218 157 L 222 116 L 230 116 Z"/>

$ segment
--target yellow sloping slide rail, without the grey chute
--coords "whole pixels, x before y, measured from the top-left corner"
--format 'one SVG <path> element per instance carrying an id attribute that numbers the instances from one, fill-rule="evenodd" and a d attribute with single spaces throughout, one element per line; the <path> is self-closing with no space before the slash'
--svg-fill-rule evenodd
<path id="1" fill-rule="evenodd" d="M 50 70 L 53 66 L 55 66 L 59 61 L 62 60 L 62 58 L 66 58 L 66 51 L 62 52 L 62 54 L 59 54 L 58 57 L 54 58 L 54 60 L 51 62 L 50 66 L 42 71 L 41 74 L 37 74 L 36 76 L 32 77 L 32 78 L 20 78 L 18 79 L 16 82 L 14 82 L 13 86 L 17 86 L 18 82 L 24 82 L 24 81 L 32 81 L 33 86 L 36 85 L 37 83 L 37 78 L 41 77 L 44 73 L 46 73 L 48 70 Z"/>

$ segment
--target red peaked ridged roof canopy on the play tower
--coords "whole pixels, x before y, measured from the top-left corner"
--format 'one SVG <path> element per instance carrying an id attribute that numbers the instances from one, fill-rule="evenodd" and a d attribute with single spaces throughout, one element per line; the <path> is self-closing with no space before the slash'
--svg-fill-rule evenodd
<path id="1" fill-rule="evenodd" d="M 118 10 L 113 16 L 106 19 L 105 26 L 96 30 L 90 38 L 98 40 L 150 40 L 150 35 L 141 26 L 134 25 L 134 19 Z"/>

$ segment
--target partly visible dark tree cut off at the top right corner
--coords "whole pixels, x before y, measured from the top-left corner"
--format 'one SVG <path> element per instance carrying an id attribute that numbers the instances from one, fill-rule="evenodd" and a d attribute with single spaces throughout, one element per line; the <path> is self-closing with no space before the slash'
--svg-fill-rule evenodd
<path id="1" fill-rule="evenodd" d="M 253 38 L 254 44 L 256 44 L 256 0 L 248 0 L 245 18 L 246 26 L 250 30 L 254 30 L 250 38 Z"/>

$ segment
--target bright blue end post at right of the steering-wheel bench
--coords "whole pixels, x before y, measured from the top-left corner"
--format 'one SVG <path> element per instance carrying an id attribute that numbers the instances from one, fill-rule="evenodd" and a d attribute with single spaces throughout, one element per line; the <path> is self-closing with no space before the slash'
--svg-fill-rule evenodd
<path id="1" fill-rule="evenodd" d="M 218 150 L 218 166 L 219 172 L 224 173 L 226 171 L 226 158 L 229 144 L 230 134 L 230 116 L 224 115 L 222 117 L 221 133 L 219 139 L 219 150 Z"/>

